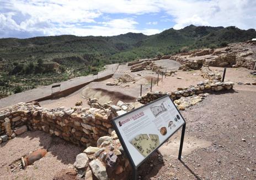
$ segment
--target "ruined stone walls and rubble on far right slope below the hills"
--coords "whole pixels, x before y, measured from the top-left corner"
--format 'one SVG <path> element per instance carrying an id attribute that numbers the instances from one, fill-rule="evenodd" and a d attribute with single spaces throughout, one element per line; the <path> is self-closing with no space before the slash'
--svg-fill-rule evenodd
<path id="1" fill-rule="evenodd" d="M 251 42 L 233 43 L 217 49 L 201 49 L 196 52 L 179 53 L 170 56 L 179 61 L 183 71 L 198 70 L 202 65 L 216 67 L 256 68 L 256 45 Z"/>

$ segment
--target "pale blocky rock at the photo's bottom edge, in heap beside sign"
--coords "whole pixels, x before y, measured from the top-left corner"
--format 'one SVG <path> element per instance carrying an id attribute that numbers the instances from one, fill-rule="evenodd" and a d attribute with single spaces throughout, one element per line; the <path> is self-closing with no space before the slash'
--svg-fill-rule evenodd
<path id="1" fill-rule="evenodd" d="M 90 168 L 94 176 L 96 176 L 99 180 L 108 180 L 108 175 L 106 174 L 106 167 L 102 164 L 102 162 L 98 159 L 95 159 L 89 163 Z"/>

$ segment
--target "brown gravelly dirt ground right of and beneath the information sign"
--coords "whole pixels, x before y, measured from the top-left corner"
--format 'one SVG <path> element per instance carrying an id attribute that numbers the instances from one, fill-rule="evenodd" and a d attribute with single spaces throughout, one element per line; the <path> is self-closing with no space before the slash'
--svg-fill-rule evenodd
<path id="1" fill-rule="evenodd" d="M 255 92 L 212 94 L 182 111 L 187 123 L 182 161 L 179 138 L 171 138 L 157 159 L 142 165 L 140 179 L 256 179 Z M 189 144 L 199 148 L 187 151 Z"/>

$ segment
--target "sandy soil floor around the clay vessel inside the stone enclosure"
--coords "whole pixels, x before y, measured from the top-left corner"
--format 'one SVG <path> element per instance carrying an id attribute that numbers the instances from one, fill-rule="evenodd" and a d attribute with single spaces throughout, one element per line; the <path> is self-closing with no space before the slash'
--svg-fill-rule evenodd
<path id="1" fill-rule="evenodd" d="M 18 172 L 11 172 L 10 164 L 30 151 L 47 149 L 44 158 Z M 53 179 L 56 171 L 71 167 L 76 155 L 84 148 L 41 131 L 26 132 L 0 145 L 0 179 Z"/>

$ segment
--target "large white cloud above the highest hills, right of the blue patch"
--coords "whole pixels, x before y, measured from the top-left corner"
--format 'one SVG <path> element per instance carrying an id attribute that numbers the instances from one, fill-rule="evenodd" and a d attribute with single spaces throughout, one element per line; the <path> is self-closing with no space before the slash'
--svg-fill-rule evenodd
<path id="1" fill-rule="evenodd" d="M 161 0 L 159 4 L 167 14 L 173 16 L 176 23 L 174 29 L 190 24 L 256 28 L 254 0 Z"/>

